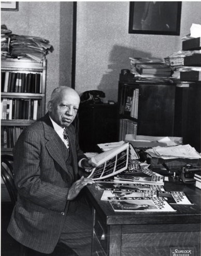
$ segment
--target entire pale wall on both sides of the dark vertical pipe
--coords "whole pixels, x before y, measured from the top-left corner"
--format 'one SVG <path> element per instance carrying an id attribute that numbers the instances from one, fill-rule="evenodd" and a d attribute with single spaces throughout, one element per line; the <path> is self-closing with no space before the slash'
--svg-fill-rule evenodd
<path id="1" fill-rule="evenodd" d="M 181 37 L 201 24 L 201 2 L 182 2 L 180 36 L 128 34 L 129 2 L 78 2 L 76 90 L 103 90 L 117 101 L 121 69 L 129 57 L 163 59 L 181 50 Z M 19 11 L 1 11 L 1 24 L 15 34 L 43 37 L 54 51 L 47 55 L 47 102 L 52 90 L 71 83 L 73 2 L 19 2 Z"/>

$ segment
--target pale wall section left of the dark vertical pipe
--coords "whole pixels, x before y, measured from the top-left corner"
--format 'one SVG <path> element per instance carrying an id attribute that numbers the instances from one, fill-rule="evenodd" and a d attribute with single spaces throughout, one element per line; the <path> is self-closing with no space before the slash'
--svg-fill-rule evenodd
<path id="1" fill-rule="evenodd" d="M 55 87 L 71 86 L 73 2 L 19 2 L 19 11 L 1 11 L 1 24 L 53 46 L 47 55 L 46 105 Z"/>

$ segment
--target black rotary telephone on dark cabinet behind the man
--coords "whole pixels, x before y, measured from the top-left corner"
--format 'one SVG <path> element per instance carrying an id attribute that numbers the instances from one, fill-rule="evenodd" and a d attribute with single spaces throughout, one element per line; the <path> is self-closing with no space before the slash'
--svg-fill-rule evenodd
<path id="1" fill-rule="evenodd" d="M 98 90 L 91 90 L 83 92 L 80 96 L 80 101 L 81 103 L 100 104 L 103 103 L 100 97 L 105 98 L 105 93 Z"/>

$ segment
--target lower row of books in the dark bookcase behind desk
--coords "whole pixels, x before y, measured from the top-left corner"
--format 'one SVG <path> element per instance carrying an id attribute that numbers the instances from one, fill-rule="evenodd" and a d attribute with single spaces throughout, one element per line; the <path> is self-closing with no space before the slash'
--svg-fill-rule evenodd
<path id="1" fill-rule="evenodd" d="M 126 134 L 137 135 L 137 122 L 129 119 L 120 119 L 119 124 L 119 141 L 125 140 Z"/>

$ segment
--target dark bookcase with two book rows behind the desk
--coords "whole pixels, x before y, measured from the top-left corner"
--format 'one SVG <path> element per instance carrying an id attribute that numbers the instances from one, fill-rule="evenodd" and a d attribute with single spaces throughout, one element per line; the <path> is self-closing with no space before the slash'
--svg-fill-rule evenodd
<path id="1" fill-rule="evenodd" d="M 176 84 L 119 81 L 119 140 L 125 134 L 173 136 Z"/>

